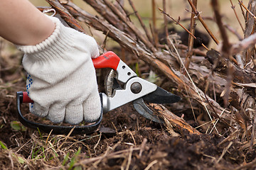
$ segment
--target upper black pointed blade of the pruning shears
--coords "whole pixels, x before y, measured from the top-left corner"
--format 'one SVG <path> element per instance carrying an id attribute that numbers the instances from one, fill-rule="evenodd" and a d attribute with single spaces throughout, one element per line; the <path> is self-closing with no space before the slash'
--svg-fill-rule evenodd
<path id="1" fill-rule="evenodd" d="M 144 101 L 147 101 L 149 103 L 157 103 L 157 104 L 165 104 L 165 103 L 176 103 L 178 101 L 181 101 L 181 98 L 179 96 L 176 96 L 175 94 L 171 94 L 169 91 L 166 91 L 164 89 L 161 89 L 161 87 L 157 86 L 156 91 L 153 91 L 150 94 L 147 94 L 146 96 L 142 97 Z"/>

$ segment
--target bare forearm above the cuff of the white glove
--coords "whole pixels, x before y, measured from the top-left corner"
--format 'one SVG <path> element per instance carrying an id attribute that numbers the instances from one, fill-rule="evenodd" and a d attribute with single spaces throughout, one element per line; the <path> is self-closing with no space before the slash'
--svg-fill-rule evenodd
<path id="1" fill-rule="evenodd" d="M 36 45 L 55 24 L 28 0 L 0 1 L 0 36 L 17 45 Z"/>

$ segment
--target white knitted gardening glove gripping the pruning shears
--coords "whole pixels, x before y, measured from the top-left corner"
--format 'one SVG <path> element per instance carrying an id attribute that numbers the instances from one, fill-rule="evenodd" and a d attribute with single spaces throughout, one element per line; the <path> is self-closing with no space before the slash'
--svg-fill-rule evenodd
<path id="1" fill-rule="evenodd" d="M 91 57 L 99 56 L 94 38 L 50 17 L 55 30 L 38 45 L 18 46 L 25 55 L 31 113 L 53 123 L 78 124 L 100 117 L 101 103 Z"/>

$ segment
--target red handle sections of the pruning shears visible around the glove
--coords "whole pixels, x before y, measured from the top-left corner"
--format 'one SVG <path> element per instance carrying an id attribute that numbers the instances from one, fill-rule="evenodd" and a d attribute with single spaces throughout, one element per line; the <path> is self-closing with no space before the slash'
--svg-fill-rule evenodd
<path id="1" fill-rule="evenodd" d="M 114 52 L 109 51 L 103 55 L 100 55 L 97 58 L 92 59 L 92 62 L 95 69 L 111 68 L 117 70 L 120 58 L 116 54 L 114 54 Z M 28 93 L 26 91 L 23 91 L 22 103 L 33 103 L 31 98 L 28 97 Z"/>

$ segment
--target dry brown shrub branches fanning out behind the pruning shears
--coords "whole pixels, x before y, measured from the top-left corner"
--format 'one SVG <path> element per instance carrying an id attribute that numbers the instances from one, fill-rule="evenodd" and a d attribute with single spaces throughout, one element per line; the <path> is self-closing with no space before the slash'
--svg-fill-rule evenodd
<path id="1" fill-rule="evenodd" d="M 215 21 L 223 38 L 223 45 L 220 45 L 221 50 L 219 52 L 208 50 L 206 47 L 208 50 L 205 54 L 208 60 L 206 61 L 203 57 L 192 56 L 198 54 L 197 52 L 200 51 L 193 49 L 193 39 L 197 39 L 193 35 L 195 32 L 194 23 L 196 22 L 196 18 L 206 28 L 210 37 L 217 44 L 220 44 L 220 42 L 211 33 L 200 13 L 196 10 L 196 1 L 192 2 L 188 0 L 188 3 L 193 9 L 191 15 L 191 23 L 193 25 L 191 25 L 190 30 L 186 30 L 190 34 L 188 47 L 178 44 L 176 38 L 169 35 L 168 31 L 165 32 L 166 44 L 159 44 L 156 41 L 158 38 L 155 34 L 154 21 L 151 30 L 146 28 L 142 17 L 139 16 L 132 1 L 129 1 L 129 4 L 134 10 L 134 15 L 137 16 L 137 19 L 141 23 L 142 30 L 139 30 L 134 25 L 129 18 L 130 14 L 124 10 L 122 4 L 118 1 L 113 3 L 107 0 L 85 1 L 95 8 L 100 16 L 93 16 L 83 11 L 71 1 L 60 1 L 60 4 L 58 4 L 57 1 L 48 0 L 56 8 L 58 13 L 63 16 L 65 21 L 70 23 L 70 26 L 75 28 L 73 21 L 70 20 L 72 18 L 71 16 L 74 16 L 92 28 L 102 31 L 107 37 L 117 41 L 124 50 L 136 55 L 139 60 L 143 60 L 154 68 L 154 71 L 169 79 L 172 88 L 178 89 L 176 93 L 183 97 L 183 101 L 188 103 L 196 101 L 198 104 L 196 107 L 203 108 L 203 114 L 208 115 L 210 123 L 207 125 L 207 133 L 215 131 L 219 135 L 223 135 L 222 130 L 218 130 L 218 124 L 221 124 L 220 127 L 223 128 L 225 126 L 228 134 L 239 129 L 237 133 L 242 137 L 240 139 L 241 141 L 247 141 L 250 137 L 252 137 L 250 140 L 254 140 L 253 135 L 250 135 L 255 128 L 255 126 L 252 126 L 254 125 L 253 120 L 255 115 L 254 42 L 256 39 L 255 34 L 253 34 L 255 20 L 252 19 L 254 17 L 252 15 L 255 13 L 254 11 L 252 13 L 245 11 L 245 39 L 232 45 L 228 40 L 226 28 L 221 21 L 218 1 L 212 1 Z M 254 3 L 254 1 L 250 1 L 248 5 L 249 9 L 247 10 L 250 10 L 250 8 L 253 9 Z M 102 8 L 105 10 L 102 10 Z M 163 21 L 167 21 L 168 19 L 175 21 L 164 9 L 160 8 L 159 12 L 163 13 Z M 69 16 L 67 13 L 70 13 Z M 194 17 L 195 15 L 196 17 Z M 179 21 L 175 22 L 182 26 Z M 199 52 L 199 54 L 202 53 L 204 51 Z M 186 113 L 184 114 L 186 115 Z M 205 123 L 205 121 L 200 121 L 198 117 L 196 119 L 198 119 L 196 122 L 199 125 Z M 174 127 L 181 125 L 181 123 L 175 123 L 174 120 L 169 121 Z M 189 129 L 188 124 L 184 127 Z M 193 132 L 193 130 L 190 132 Z M 243 133 L 245 135 L 242 135 Z"/>

